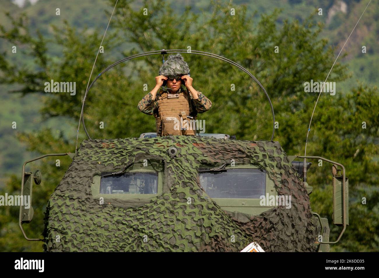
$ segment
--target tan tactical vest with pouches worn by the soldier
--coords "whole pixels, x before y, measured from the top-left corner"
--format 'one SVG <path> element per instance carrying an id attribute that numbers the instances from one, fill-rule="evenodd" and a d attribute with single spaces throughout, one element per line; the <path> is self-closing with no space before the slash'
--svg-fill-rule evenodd
<path id="1" fill-rule="evenodd" d="M 158 136 L 196 135 L 194 119 L 189 119 L 189 93 L 181 89 L 180 93 L 161 92 L 158 98 L 159 116 L 156 118 Z"/>

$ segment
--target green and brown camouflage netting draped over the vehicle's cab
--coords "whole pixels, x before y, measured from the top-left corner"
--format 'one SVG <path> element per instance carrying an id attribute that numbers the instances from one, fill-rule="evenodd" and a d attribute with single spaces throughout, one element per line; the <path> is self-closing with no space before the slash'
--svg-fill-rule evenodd
<path id="1" fill-rule="evenodd" d="M 170 147 L 178 149 L 175 157 Z M 164 164 L 163 193 L 147 202 L 100 204 L 91 183 L 144 159 Z M 227 213 L 200 188 L 200 165 L 254 163 L 292 206 L 258 216 Z M 191 203 L 187 198 L 191 197 Z M 84 140 L 47 205 L 45 251 L 316 251 L 309 196 L 278 142 L 193 136 Z M 234 235 L 235 242 L 232 242 Z M 59 236 L 60 241 L 56 238 Z M 147 236 L 147 242 L 144 238 Z"/>

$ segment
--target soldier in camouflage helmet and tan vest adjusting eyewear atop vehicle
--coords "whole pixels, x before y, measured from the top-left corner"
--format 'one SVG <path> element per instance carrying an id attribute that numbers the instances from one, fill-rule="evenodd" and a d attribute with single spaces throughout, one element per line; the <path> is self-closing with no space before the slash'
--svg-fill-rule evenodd
<path id="1" fill-rule="evenodd" d="M 154 115 L 158 136 L 196 135 L 196 115 L 208 111 L 211 101 L 192 87 L 188 65 L 179 53 L 168 57 L 159 74 L 154 89 L 139 101 L 138 109 Z"/>

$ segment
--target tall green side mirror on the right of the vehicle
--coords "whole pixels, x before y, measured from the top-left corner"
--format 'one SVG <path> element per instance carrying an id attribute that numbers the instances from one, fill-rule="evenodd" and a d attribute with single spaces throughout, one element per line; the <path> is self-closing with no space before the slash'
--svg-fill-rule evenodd
<path id="1" fill-rule="evenodd" d="M 345 190 L 342 192 L 343 176 L 337 165 L 332 166 L 333 174 L 333 223 L 343 225 L 343 210 L 346 210 L 346 225 L 349 225 L 349 179 L 345 177 Z M 345 194 L 345 208 L 343 207 L 343 194 Z"/>

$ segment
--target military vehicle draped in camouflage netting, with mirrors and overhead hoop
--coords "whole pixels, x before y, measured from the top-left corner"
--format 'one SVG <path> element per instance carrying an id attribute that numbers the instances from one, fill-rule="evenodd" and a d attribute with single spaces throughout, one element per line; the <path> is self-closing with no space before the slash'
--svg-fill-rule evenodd
<path id="1" fill-rule="evenodd" d="M 187 53 L 143 54 L 180 51 Z M 199 53 L 227 60 L 192 51 Z M 133 57 L 120 61 L 128 59 Z M 88 135 L 75 154 L 47 154 L 23 164 L 21 195 L 32 196 L 33 181 L 40 184 L 41 173 L 25 172 L 28 163 L 47 156 L 72 158 L 47 203 L 43 239 L 30 239 L 23 230 L 33 218 L 32 206 L 20 207 L 20 228 L 27 240 L 42 240 L 45 251 L 240 252 L 251 242 L 265 252 L 329 251 L 348 225 L 345 168 L 318 156 L 289 156 L 273 136 L 274 130 L 267 141 L 226 134 L 144 133 L 119 139 Z M 343 226 L 335 241 L 329 241 L 327 219 L 310 205 L 312 186 L 306 174 L 311 163 L 296 158 L 333 165 L 333 222 Z"/>

